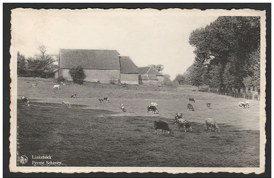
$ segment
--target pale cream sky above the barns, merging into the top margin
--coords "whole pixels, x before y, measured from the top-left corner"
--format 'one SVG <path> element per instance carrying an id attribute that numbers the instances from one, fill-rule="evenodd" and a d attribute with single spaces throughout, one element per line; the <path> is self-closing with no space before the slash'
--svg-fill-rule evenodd
<path id="1" fill-rule="evenodd" d="M 117 50 L 137 66 L 164 65 L 163 73 L 173 80 L 194 60 L 190 33 L 218 16 L 181 9 L 15 9 L 12 43 L 26 57 L 38 53 L 39 44 L 50 54 L 58 54 L 60 48 Z"/>

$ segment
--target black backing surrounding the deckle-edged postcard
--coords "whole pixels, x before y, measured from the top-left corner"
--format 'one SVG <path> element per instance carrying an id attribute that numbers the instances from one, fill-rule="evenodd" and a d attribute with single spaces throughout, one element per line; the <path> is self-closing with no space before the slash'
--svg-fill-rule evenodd
<path id="1" fill-rule="evenodd" d="M 10 14 L 14 8 L 33 9 L 86 9 L 86 8 L 124 8 L 124 9 L 256 9 L 266 10 L 266 165 L 265 173 L 194 173 L 194 174 L 168 174 L 168 173 L 21 173 L 9 172 L 9 104 L 10 104 L 10 78 L 9 78 L 9 47 L 10 47 Z M 203 153 L 201 153 L 203 154 Z M 3 3 L 3 177 L 271 177 L 271 3 Z"/>

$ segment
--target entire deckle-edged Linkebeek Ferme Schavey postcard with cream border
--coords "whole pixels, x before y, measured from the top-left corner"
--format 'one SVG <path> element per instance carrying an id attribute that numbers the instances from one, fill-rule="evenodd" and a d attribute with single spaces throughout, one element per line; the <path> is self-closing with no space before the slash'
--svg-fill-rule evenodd
<path id="1" fill-rule="evenodd" d="M 265 11 L 11 10 L 11 172 L 265 171 Z"/>

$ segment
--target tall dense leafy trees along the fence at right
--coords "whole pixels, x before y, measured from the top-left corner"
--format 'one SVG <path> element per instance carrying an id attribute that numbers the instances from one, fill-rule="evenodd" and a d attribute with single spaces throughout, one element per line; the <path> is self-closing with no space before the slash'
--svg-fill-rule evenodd
<path id="1" fill-rule="evenodd" d="M 194 30 L 189 43 L 196 57 L 183 78 L 190 84 L 237 95 L 241 88 L 260 88 L 260 17 L 218 17 Z"/>

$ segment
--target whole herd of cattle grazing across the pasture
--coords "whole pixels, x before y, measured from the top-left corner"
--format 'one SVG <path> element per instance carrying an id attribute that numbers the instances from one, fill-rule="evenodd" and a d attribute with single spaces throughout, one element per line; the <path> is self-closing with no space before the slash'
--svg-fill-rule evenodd
<path id="1" fill-rule="evenodd" d="M 63 84 L 63 85 L 65 86 L 66 84 Z M 31 87 L 37 87 L 37 83 L 32 83 Z M 60 87 L 60 85 L 54 85 L 53 89 L 58 89 L 59 90 L 59 87 Z M 71 95 L 70 98 L 77 98 L 76 94 Z M 103 101 L 106 101 L 106 103 L 109 102 L 108 97 L 105 97 L 103 99 L 99 98 L 98 100 L 99 100 L 100 104 L 103 104 Z M 189 98 L 189 102 L 194 102 L 195 103 L 194 98 Z M 29 106 L 29 98 L 25 97 L 25 96 L 22 96 L 21 97 L 21 103 L 23 105 L 25 105 L 25 103 L 26 103 L 26 105 Z M 154 112 L 154 114 L 159 113 L 158 104 L 156 102 L 151 102 L 150 104 L 151 104 L 150 106 L 147 106 L 147 113 L 149 113 L 149 111 L 152 111 L 152 113 Z M 238 106 L 239 106 L 238 108 L 239 109 L 247 109 L 247 108 L 249 108 L 249 104 L 250 104 L 249 101 L 238 102 Z M 208 109 L 210 109 L 210 105 L 211 105 L 211 103 L 209 103 L 209 102 L 206 103 L 206 106 L 207 106 Z M 69 108 L 70 103 L 68 101 L 62 101 L 62 107 L 63 106 L 66 106 L 67 108 Z M 189 111 L 194 111 L 194 108 L 193 108 L 192 104 L 190 104 L 190 103 L 187 104 L 187 108 L 188 108 Z M 120 105 L 120 109 L 121 109 L 121 112 L 125 112 L 125 106 L 123 104 Z M 192 132 L 192 126 L 190 125 L 190 123 L 186 119 L 183 119 L 182 116 L 183 116 L 182 113 L 176 113 L 175 114 L 175 119 L 173 120 L 174 124 L 178 125 L 178 130 L 179 131 L 180 131 L 180 128 L 184 128 L 185 132 L 187 132 L 187 130 L 189 132 Z M 214 128 L 215 132 L 216 131 L 220 132 L 220 128 L 218 127 L 218 124 L 216 123 L 216 121 L 214 119 L 207 118 L 205 120 L 205 124 L 206 124 L 208 132 L 211 132 L 212 128 Z M 158 135 L 158 132 L 157 132 L 158 129 L 162 130 L 162 134 L 163 134 L 163 132 L 166 133 L 166 131 L 167 131 L 167 133 L 171 134 L 171 129 L 169 128 L 167 122 L 154 121 L 153 125 L 154 125 L 154 128 L 155 128 L 155 133 L 157 135 Z"/>

